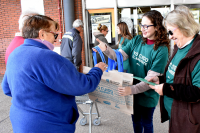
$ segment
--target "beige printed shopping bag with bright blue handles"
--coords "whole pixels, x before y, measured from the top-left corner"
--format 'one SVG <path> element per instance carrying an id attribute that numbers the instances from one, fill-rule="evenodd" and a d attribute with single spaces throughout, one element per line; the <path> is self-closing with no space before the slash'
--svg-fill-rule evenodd
<path id="1" fill-rule="evenodd" d="M 98 46 L 95 47 L 99 52 L 102 62 L 104 56 Z M 133 95 L 119 96 L 118 87 L 133 84 L 133 74 L 123 72 L 123 56 L 116 50 L 117 62 L 108 59 L 108 69 L 103 73 L 101 81 L 94 92 L 89 93 L 89 98 L 95 102 L 107 105 L 111 108 L 122 111 L 126 114 L 133 114 Z M 96 65 L 96 52 L 93 52 L 94 65 Z M 115 70 L 116 66 L 118 71 Z M 88 73 L 90 67 L 83 67 L 83 73 Z"/>

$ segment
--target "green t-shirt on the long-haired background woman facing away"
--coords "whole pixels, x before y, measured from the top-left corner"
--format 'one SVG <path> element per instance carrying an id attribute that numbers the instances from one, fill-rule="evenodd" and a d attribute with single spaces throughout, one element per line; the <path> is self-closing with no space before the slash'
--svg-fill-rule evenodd
<path id="1" fill-rule="evenodd" d="M 123 40 L 124 40 L 124 42 L 123 42 L 123 44 L 122 44 L 122 41 L 123 41 Z M 123 37 L 121 37 L 120 42 L 119 42 L 119 47 L 118 47 L 118 49 L 122 49 L 124 46 L 126 46 L 126 44 L 127 44 L 129 41 L 131 41 L 131 40 L 129 40 L 129 39 L 127 39 L 127 38 L 124 39 Z M 130 73 L 129 60 L 126 60 L 126 61 L 123 62 L 123 68 L 124 68 L 125 71 L 127 71 L 128 73 Z"/>

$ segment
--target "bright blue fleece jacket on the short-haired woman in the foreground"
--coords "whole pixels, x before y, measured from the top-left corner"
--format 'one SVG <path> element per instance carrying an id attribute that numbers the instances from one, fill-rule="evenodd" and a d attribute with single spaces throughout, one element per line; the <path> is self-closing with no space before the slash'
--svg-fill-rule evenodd
<path id="1" fill-rule="evenodd" d="M 9 56 L 2 81 L 12 97 L 14 133 L 73 133 L 79 117 L 75 96 L 94 91 L 101 76 L 97 67 L 79 73 L 44 44 L 25 39 Z"/>

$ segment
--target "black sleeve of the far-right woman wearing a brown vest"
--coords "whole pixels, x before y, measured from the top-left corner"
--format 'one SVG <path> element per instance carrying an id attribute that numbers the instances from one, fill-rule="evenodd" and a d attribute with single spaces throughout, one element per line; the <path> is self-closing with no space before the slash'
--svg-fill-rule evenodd
<path id="1" fill-rule="evenodd" d="M 164 83 L 163 95 L 184 102 L 198 102 L 200 100 L 200 89 L 193 85 Z"/>

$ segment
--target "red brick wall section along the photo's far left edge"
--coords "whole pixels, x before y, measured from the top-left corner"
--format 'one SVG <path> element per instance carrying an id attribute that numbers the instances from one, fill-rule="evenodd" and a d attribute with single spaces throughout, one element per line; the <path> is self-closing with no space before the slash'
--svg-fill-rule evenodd
<path id="1" fill-rule="evenodd" d="M 20 0 L 1 0 L 0 16 L 0 76 L 5 73 L 5 52 L 9 43 L 19 31 L 18 19 L 21 13 Z"/>

